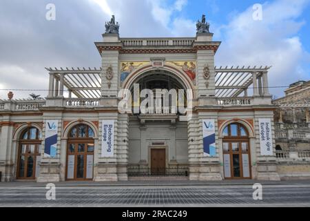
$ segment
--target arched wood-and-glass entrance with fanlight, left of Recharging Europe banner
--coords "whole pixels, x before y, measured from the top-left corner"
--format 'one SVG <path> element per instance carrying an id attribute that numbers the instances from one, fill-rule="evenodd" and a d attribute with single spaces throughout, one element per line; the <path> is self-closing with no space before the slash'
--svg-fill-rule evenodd
<path id="1" fill-rule="evenodd" d="M 66 180 L 92 180 L 94 131 L 86 124 L 71 128 L 68 135 Z"/>

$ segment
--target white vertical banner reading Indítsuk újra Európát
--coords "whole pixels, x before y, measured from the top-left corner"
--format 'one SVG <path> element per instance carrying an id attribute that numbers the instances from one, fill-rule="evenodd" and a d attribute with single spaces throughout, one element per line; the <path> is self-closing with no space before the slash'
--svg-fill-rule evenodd
<path id="1" fill-rule="evenodd" d="M 260 125 L 260 155 L 273 155 L 271 119 L 259 119 Z"/>

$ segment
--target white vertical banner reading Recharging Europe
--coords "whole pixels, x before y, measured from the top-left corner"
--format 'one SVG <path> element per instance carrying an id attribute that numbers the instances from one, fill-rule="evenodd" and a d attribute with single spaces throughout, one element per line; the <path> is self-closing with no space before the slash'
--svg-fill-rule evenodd
<path id="1" fill-rule="evenodd" d="M 114 119 L 102 121 L 101 157 L 114 157 L 114 123 Z"/>

